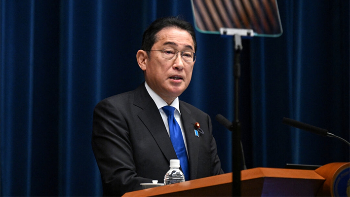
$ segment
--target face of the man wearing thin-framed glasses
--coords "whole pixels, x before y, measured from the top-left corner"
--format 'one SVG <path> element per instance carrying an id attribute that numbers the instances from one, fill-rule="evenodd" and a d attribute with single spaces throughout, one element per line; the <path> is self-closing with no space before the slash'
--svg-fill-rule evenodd
<path id="1" fill-rule="evenodd" d="M 157 41 L 152 50 L 174 48 L 179 51 L 194 52 L 194 41 L 191 35 L 176 28 L 165 28 L 158 32 Z M 161 51 L 150 51 L 150 58 L 140 66 L 145 72 L 147 84 L 168 104 L 180 96 L 189 86 L 194 62 L 185 62 L 181 52 L 173 59 L 166 59 Z"/>

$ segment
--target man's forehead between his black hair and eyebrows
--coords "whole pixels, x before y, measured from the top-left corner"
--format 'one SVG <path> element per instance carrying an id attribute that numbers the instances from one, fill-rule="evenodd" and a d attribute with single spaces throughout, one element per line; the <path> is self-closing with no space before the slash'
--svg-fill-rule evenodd
<path id="1" fill-rule="evenodd" d="M 156 34 L 155 45 L 175 45 L 194 50 L 194 41 L 190 33 L 179 28 L 164 28 Z"/>

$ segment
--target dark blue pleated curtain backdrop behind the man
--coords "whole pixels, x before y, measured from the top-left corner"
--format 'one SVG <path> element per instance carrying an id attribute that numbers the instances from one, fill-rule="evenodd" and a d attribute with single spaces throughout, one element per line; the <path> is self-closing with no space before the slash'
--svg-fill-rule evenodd
<path id="1" fill-rule="evenodd" d="M 278 0 L 283 34 L 243 40 L 240 120 L 248 168 L 349 161 L 349 146 L 291 128 L 293 118 L 349 140 L 349 0 Z M 190 0 L 0 0 L 0 196 L 101 196 L 92 112 L 136 88 L 142 33 L 157 17 L 194 23 Z M 233 38 L 197 32 L 181 95 L 213 119 L 231 172 Z M 165 172 L 164 172 L 165 173 Z"/>

